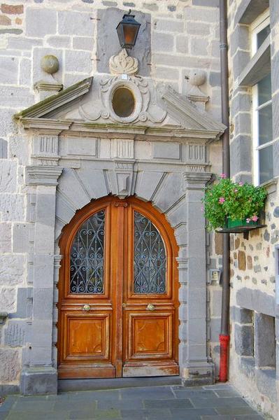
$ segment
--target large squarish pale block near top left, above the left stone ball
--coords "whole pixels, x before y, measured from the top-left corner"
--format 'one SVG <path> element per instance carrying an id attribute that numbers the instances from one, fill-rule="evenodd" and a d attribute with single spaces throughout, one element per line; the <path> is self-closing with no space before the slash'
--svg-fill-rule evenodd
<path id="1" fill-rule="evenodd" d="M 55 34 L 57 27 L 57 13 L 47 8 L 27 8 L 26 34 L 42 38 L 48 34 Z"/>

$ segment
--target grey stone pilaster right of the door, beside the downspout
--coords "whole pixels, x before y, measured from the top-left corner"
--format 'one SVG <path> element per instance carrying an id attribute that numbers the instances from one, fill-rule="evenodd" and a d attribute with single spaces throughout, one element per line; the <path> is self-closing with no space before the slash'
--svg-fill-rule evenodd
<path id="1" fill-rule="evenodd" d="M 201 211 L 201 199 L 211 174 L 183 174 L 187 206 L 187 285 L 183 285 L 183 322 L 185 339 L 182 343 L 185 385 L 213 382 L 213 365 L 206 351 L 206 230 Z"/>

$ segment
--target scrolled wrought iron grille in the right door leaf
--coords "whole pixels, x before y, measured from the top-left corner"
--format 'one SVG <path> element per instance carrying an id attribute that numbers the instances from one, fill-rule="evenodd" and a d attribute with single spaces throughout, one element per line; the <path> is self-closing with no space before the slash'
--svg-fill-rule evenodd
<path id="1" fill-rule="evenodd" d="M 166 250 L 155 225 L 134 212 L 134 293 L 166 293 Z"/>

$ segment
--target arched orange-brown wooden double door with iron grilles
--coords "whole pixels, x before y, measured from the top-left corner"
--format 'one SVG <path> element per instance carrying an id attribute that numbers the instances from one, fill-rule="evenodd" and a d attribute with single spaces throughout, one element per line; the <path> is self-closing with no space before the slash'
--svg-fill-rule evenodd
<path id="1" fill-rule="evenodd" d="M 177 245 L 150 203 L 106 197 L 60 241 L 59 378 L 178 374 Z"/>

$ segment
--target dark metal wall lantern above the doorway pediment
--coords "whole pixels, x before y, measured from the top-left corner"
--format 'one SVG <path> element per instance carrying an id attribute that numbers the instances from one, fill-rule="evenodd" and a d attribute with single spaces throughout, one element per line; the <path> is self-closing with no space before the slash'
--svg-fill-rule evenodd
<path id="1" fill-rule="evenodd" d="M 116 27 L 121 48 L 131 49 L 134 47 L 138 36 L 138 30 L 141 26 L 141 24 L 134 19 L 135 16 L 130 13 L 131 10 L 129 10 L 128 15 L 123 16 L 122 21 L 119 22 Z"/>

